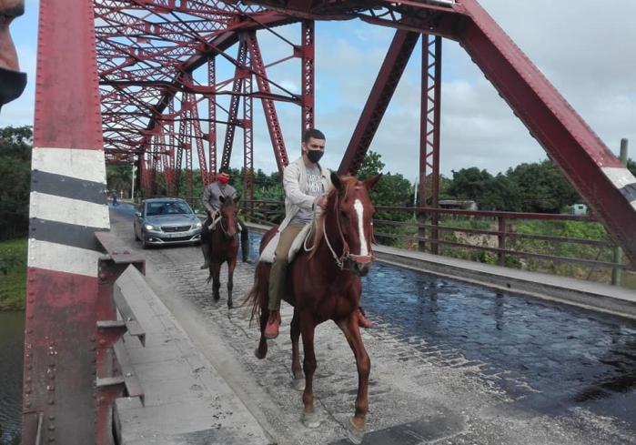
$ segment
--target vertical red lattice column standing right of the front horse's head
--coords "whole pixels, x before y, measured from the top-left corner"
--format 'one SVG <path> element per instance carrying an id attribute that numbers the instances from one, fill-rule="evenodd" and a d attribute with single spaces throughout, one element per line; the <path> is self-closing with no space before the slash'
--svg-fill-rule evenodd
<path id="1" fill-rule="evenodd" d="M 422 35 L 421 123 L 419 127 L 419 207 L 439 207 L 439 130 L 441 114 L 441 37 Z M 425 221 L 420 214 L 419 222 Z M 438 225 L 438 213 L 431 213 L 431 223 Z M 419 229 L 420 238 L 426 230 Z M 431 228 L 430 251 L 438 254 L 437 228 Z M 425 243 L 419 242 L 419 250 Z"/>

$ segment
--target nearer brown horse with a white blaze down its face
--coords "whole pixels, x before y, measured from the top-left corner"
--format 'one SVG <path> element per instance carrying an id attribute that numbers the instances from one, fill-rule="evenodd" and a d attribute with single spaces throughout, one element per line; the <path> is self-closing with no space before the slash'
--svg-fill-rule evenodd
<path id="1" fill-rule="evenodd" d="M 360 277 L 365 276 L 374 258 L 371 252 L 373 238 L 371 217 L 375 211 L 368 190 L 379 177 L 359 181 L 356 177 L 338 177 L 331 174 L 334 188 L 329 191 L 327 205 L 314 226 L 311 246 L 306 243 L 288 266 L 286 298 L 294 306 L 291 320 L 292 362 L 294 386 L 303 378 L 303 422 L 310 428 L 318 427 L 314 408 L 313 377 L 316 370 L 314 331 L 318 324 L 333 320 L 347 338 L 358 365 L 358 397 L 356 412 L 349 419 L 348 436 L 355 443 L 362 441 L 368 411 L 368 374 L 371 367 L 358 328 L 357 310 L 362 290 Z M 261 251 L 277 228 L 263 237 Z M 255 353 L 264 359 L 268 353 L 265 325 L 268 321 L 268 281 L 271 265 L 257 264 L 254 286 L 248 301 L 253 305 L 252 319 L 260 318 L 260 341 Z M 305 358 L 300 368 L 298 337 L 302 334 Z"/>

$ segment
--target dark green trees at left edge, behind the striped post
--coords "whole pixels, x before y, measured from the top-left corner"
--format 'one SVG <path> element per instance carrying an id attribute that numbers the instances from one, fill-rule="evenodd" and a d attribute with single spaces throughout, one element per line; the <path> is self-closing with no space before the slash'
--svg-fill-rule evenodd
<path id="1" fill-rule="evenodd" d="M 30 126 L 0 129 L 0 240 L 28 231 L 32 144 Z"/>

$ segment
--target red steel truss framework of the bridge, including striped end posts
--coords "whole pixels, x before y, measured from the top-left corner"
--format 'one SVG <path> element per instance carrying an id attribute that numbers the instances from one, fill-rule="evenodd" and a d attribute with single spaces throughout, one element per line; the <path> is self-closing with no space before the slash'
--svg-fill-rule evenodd
<path id="1" fill-rule="evenodd" d="M 177 195 L 192 187 L 195 163 L 205 183 L 217 167 L 229 164 L 232 149 L 242 146 L 249 192 L 254 132 L 265 131 L 253 126 L 254 101 L 263 106 L 280 170 L 288 164 L 288 148 L 277 104 L 298 106 L 298 133 L 314 122 L 315 22 L 352 19 L 393 28 L 395 35 L 351 129 L 340 173 L 357 172 L 422 39 L 417 55 L 422 69 L 419 187 L 422 202 L 437 207 L 441 39 L 452 39 L 636 264 L 636 179 L 477 0 L 43 0 L 35 79 L 25 443 L 35 443 L 35 431 L 45 431 L 48 443 L 86 444 L 96 435 L 97 443 L 106 443 L 99 436 L 106 408 L 94 373 L 105 372 L 102 347 L 112 337 L 97 335 L 96 323 L 114 317 L 106 294 L 126 252 L 106 238 L 100 238 L 101 246 L 96 242 L 96 233 L 110 227 L 105 157 L 136 163 L 138 186 L 146 195 L 159 185 Z M 293 39 L 280 31 L 289 24 L 298 29 Z M 267 48 L 260 44 L 264 35 Z M 263 53 L 272 41 L 286 47 L 287 56 L 266 64 Z M 270 76 L 278 64 L 298 66 L 298 91 Z M 106 245 L 108 258 L 102 253 Z"/>

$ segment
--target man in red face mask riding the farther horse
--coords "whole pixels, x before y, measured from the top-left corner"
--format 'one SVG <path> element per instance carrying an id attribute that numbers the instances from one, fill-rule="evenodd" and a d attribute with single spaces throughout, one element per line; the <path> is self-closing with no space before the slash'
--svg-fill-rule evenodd
<path id="1" fill-rule="evenodd" d="M 203 258 L 206 260 L 201 268 L 209 268 L 210 263 L 210 245 L 209 227 L 217 217 L 218 209 L 221 207 L 221 197 L 232 197 L 236 199 L 237 190 L 229 184 L 229 168 L 221 167 L 218 169 L 217 180 L 212 181 L 203 191 L 203 205 L 206 207 L 207 219 L 201 230 L 201 251 Z M 252 263 L 249 259 L 249 241 L 247 238 L 247 227 L 240 217 L 237 217 L 238 226 L 241 228 L 241 250 L 244 263 Z"/>

